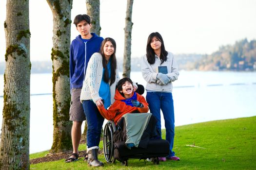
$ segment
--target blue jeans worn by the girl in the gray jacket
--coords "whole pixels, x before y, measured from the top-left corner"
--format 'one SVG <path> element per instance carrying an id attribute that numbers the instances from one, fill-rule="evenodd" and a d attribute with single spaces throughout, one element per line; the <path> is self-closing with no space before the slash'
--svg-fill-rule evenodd
<path id="1" fill-rule="evenodd" d="M 149 110 L 157 119 L 157 131 L 161 136 L 161 115 L 160 109 L 163 113 L 164 124 L 166 129 L 165 139 L 170 143 L 169 157 L 174 156 L 172 151 L 174 143 L 174 105 L 172 93 L 164 92 L 147 92 L 146 100 L 148 102 Z"/>

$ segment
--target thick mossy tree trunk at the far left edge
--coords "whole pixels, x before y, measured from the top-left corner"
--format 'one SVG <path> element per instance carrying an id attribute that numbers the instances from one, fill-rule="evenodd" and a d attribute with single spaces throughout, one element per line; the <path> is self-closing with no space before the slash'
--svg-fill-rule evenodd
<path id="1" fill-rule="evenodd" d="M 7 0 L 0 170 L 29 170 L 29 1 Z"/>

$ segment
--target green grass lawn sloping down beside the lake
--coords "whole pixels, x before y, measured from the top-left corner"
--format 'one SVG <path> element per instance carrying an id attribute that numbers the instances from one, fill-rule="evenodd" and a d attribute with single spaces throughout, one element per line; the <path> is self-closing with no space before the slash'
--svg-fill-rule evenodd
<path id="1" fill-rule="evenodd" d="M 102 170 L 256 170 L 256 117 L 209 121 L 176 127 L 174 152 L 180 161 L 144 163 L 144 160 L 128 160 L 128 167 L 120 162 L 108 164 L 104 155 Z M 165 135 L 165 130 L 162 132 Z M 165 138 L 165 136 L 163 136 Z M 190 146 L 188 146 L 190 145 Z M 195 147 L 193 147 L 195 146 Z M 79 150 L 85 150 L 81 145 Z M 102 149 L 102 142 L 100 142 Z M 42 157 L 48 152 L 34 153 L 30 158 Z M 64 163 L 64 159 L 30 165 L 33 170 L 84 170 L 93 169 L 83 158 Z"/>

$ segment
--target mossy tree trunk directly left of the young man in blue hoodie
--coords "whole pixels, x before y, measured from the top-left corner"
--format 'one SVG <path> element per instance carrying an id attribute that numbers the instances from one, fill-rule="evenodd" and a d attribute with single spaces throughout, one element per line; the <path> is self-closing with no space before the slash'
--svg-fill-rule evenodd
<path id="1" fill-rule="evenodd" d="M 53 145 L 51 153 L 72 150 L 69 121 L 69 48 L 72 0 L 47 0 L 53 13 Z"/>

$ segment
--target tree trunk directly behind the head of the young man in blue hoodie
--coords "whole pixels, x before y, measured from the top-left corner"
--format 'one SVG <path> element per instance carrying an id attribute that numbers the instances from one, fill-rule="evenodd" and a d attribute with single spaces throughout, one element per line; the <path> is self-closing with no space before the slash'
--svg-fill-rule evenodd
<path id="1" fill-rule="evenodd" d="M 100 23 L 99 23 L 99 0 L 86 0 L 87 15 L 91 17 L 91 33 L 100 35 Z"/>

